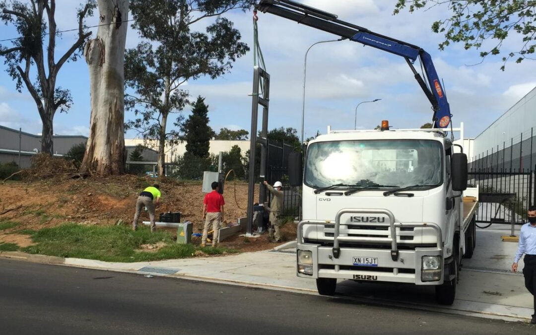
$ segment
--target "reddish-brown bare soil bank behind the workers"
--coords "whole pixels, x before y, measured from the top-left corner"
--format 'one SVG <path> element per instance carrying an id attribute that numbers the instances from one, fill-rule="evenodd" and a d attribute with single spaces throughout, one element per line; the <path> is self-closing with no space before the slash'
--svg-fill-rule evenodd
<path id="1" fill-rule="evenodd" d="M 16 227 L 0 231 L 0 242 L 17 243 L 25 247 L 32 243 L 31 239 L 28 235 L 17 234 L 19 230 L 39 230 L 66 222 L 85 225 L 130 225 L 138 193 L 154 182 L 155 180 L 149 177 L 125 175 L 85 180 L 58 176 L 32 182 L 0 184 L 0 213 L 14 209 L 0 215 L 0 221 L 19 222 Z M 162 204 L 157 209 L 157 220 L 160 213 L 181 212 L 183 221 L 193 223 L 193 232 L 202 233 L 202 204 L 205 195 L 202 192 L 202 183 L 170 179 L 159 180 L 158 183 L 162 191 Z M 247 184 L 227 181 L 225 186 L 225 218 L 228 223 L 237 222 L 238 218 L 246 215 Z M 257 194 L 255 198 L 258 198 Z M 148 220 L 147 212 L 142 211 L 141 220 Z M 294 224 L 282 227 L 284 241 L 295 239 L 295 228 Z M 173 229 L 169 231 L 175 233 Z M 193 242 L 199 243 L 200 240 L 194 239 Z M 242 251 L 271 249 L 275 245 L 268 241 L 267 234 L 255 239 L 233 236 L 221 243 L 222 247 Z M 153 249 L 158 250 L 158 247 L 150 249 L 147 246 L 146 250 Z"/>

